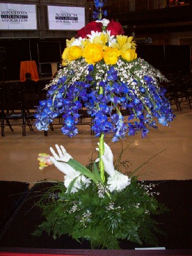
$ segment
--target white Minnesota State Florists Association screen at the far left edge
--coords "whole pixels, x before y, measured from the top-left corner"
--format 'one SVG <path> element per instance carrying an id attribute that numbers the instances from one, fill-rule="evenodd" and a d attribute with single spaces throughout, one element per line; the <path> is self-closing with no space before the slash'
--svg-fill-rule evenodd
<path id="1" fill-rule="evenodd" d="M 35 4 L 0 3 L 0 30 L 36 30 Z"/>

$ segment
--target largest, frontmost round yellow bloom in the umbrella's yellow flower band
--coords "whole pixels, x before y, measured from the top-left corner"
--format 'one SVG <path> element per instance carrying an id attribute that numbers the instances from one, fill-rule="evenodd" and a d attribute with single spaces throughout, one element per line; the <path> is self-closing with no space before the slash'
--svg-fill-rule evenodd
<path id="1" fill-rule="evenodd" d="M 87 44 L 83 50 L 83 58 L 88 64 L 95 64 L 102 60 L 103 51 L 100 44 Z"/>

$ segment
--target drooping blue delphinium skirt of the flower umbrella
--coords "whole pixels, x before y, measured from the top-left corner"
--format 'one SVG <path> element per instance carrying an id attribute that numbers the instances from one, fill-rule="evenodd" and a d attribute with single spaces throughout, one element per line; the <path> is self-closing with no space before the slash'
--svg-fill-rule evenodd
<path id="1" fill-rule="evenodd" d="M 136 61 L 138 65 L 146 64 Z M 134 61 L 132 66 L 134 68 Z M 87 65 L 83 76 L 74 79 L 75 70 L 70 66 L 67 68 L 49 86 L 47 100 L 42 100 L 37 107 L 35 124 L 39 130 L 47 131 L 54 118 L 62 115 L 61 131 L 67 136 L 76 136 L 79 109 L 82 106 L 93 118 L 95 136 L 113 134 L 112 141 L 124 139 L 125 134 L 133 136 L 138 132 L 144 138 L 149 127 L 157 128 L 156 120 L 167 126 L 174 118 L 170 102 L 164 97 L 166 90 L 157 85 L 155 74 L 151 77 L 144 72 L 139 78 L 131 67 L 126 71 L 126 77 L 132 77 L 129 81 L 128 78 L 121 79 L 122 68 L 118 70 L 115 65 L 102 66 L 98 63 L 98 67 L 97 64 Z M 102 93 L 99 88 L 102 88 Z M 124 109 L 129 112 L 128 116 L 122 115 Z"/>

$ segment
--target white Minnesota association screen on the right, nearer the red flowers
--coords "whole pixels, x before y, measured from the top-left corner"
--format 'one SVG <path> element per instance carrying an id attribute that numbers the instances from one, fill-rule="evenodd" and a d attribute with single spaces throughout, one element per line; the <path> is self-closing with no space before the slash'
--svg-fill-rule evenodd
<path id="1" fill-rule="evenodd" d="M 85 25 L 84 7 L 47 6 L 49 29 L 79 30 Z"/>

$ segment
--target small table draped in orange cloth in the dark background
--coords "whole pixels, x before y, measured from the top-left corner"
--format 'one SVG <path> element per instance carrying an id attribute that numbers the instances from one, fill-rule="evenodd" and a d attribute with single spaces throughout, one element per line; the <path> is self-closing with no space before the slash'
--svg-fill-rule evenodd
<path id="1" fill-rule="evenodd" d="M 38 81 L 38 71 L 35 60 L 31 61 L 20 61 L 20 82 L 26 81 L 26 73 L 31 73 L 31 79 Z"/>

